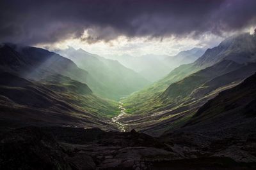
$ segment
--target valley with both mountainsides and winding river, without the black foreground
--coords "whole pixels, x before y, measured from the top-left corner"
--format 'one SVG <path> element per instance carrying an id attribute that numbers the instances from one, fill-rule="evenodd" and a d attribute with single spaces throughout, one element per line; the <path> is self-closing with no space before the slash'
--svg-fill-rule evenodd
<path id="1" fill-rule="evenodd" d="M 86 129 L 99 127 L 121 132 L 135 129 L 161 136 L 166 131 L 184 126 L 200 107 L 221 91 L 236 87 L 252 76 L 256 72 L 255 46 L 255 36 L 244 33 L 231 36 L 207 50 L 193 48 L 180 52 L 175 55 L 177 60 L 184 61 L 187 57 L 195 61 L 180 65 L 161 80 L 148 85 L 138 73 L 119 62 L 82 49 L 60 51 L 67 59 L 42 48 L 6 43 L 0 48 L 0 70 L 2 77 L 8 78 L 7 82 L 1 81 L 2 107 L 8 114 L 15 112 L 8 111 L 10 104 L 17 106 L 15 110 L 22 114 L 26 108 L 30 110 L 25 114 L 28 118 L 31 111 L 35 111 L 36 117 L 41 117 L 41 113 L 47 111 L 49 115 L 56 114 L 54 117 L 67 117 L 69 113 L 68 117 L 76 118 L 72 122 L 60 119 L 63 122 L 58 125 Z M 118 74 L 113 76 L 111 72 Z M 116 79 L 120 81 L 116 83 Z M 19 83 L 13 84 L 15 81 Z M 111 83 L 116 87 L 112 87 Z M 131 87 L 129 92 L 123 92 L 122 89 L 127 90 L 127 87 Z M 113 90 L 116 92 L 114 96 Z M 29 96 L 32 95 L 31 91 L 35 91 L 35 96 Z M 117 98 L 120 99 L 119 103 L 115 100 Z M 65 108 L 60 103 L 64 103 Z M 14 115 L 10 117 L 8 114 L 2 117 L 11 121 Z M 43 120 L 41 124 L 44 125 L 52 124 L 55 118 L 38 120 Z M 29 120 L 26 124 L 35 125 L 36 121 Z"/>

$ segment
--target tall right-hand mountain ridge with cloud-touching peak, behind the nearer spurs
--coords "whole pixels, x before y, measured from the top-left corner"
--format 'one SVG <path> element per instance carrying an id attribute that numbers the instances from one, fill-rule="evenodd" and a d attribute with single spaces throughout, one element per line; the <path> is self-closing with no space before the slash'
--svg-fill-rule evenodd
<path id="1" fill-rule="evenodd" d="M 246 44 L 250 44 L 250 46 L 246 46 Z M 172 85 L 172 83 L 178 82 L 190 74 L 196 73 L 197 71 L 205 69 L 206 67 L 211 67 L 214 64 L 218 64 L 223 60 L 230 60 L 242 65 L 246 65 L 248 62 L 255 62 L 255 53 L 255 36 L 250 34 L 239 34 L 227 38 L 221 42 L 220 45 L 206 50 L 204 55 L 202 55 L 202 57 L 197 59 L 195 62 L 179 66 L 176 69 L 173 69 L 173 71 L 171 71 L 163 79 L 153 83 L 149 87 L 139 92 L 134 92 L 134 94 L 124 99 L 124 106 L 127 108 L 127 112 L 132 114 L 139 113 L 141 108 L 147 107 L 146 105 L 150 106 L 150 108 L 147 110 L 150 111 L 150 109 L 154 108 L 154 105 L 156 105 L 156 103 L 154 103 L 154 100 L 157 98 L 156 96 L 161 95 L 164 90 L 168 89 L 168 87 Z M 241 59 L 239 59 L 239 57 Z M 239 67 L 237 67 L 237 69 L 238 68 Z M 223 69 L 225 69 L 225 66 L 223 66 Z M 248 76 L 248 74 L 246 74 L 244 78 L 246 78 L 246 76 Z M 154 104 L 150 104 L 150 101 Z M 159 104 L 157 107 L 161 107 L 161 104 Z"/>

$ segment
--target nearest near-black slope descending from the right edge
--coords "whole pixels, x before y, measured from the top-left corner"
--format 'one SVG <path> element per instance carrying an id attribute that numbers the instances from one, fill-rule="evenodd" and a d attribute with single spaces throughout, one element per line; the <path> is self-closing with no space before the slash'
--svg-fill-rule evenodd
<path id="1" fill-rule="evenodd" d="M 202 133 L 207 138 L 247 138 L 256 125 L 255 82 L 256 74 L 253 74 L 239 85 L 223 90 L 173 129 L 191 134 Z M 169 120 L 169 123 L 172 124 L 172 121 Z M 173 132 L 173 129 L 165 133 Z"/>

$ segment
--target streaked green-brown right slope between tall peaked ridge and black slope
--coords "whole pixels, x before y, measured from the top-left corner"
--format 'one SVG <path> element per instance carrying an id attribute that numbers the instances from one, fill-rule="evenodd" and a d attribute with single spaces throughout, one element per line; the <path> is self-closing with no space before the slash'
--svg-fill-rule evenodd
<path id="1" fill-rule="evenodd" d="M 128 113 L 122 118 L 127 129 L 134 128 L 159 136 L 168 129 L 184 125 L 196 110 L 225 89 L 230 89 L 256 72 L 256 63 L 237 64 L 223 60 L 214 66 L 193 73 L 172 83 L 145 103 L 125 106 Z"/>

